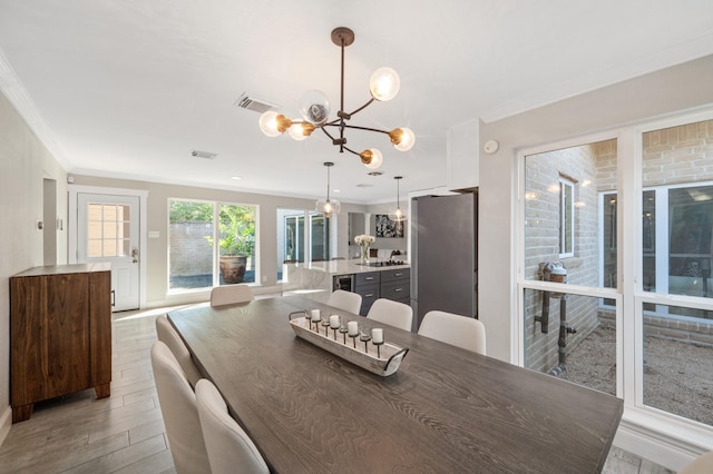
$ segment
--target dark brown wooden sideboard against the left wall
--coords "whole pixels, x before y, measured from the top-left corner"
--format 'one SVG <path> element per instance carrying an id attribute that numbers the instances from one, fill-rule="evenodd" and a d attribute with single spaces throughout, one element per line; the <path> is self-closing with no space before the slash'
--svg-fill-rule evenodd
<path id="1" fill-rule="evenodd" d="M 10 277 L 12 423 L 36 402 L 111 382 L 109 264 L 35 267 Z"/>

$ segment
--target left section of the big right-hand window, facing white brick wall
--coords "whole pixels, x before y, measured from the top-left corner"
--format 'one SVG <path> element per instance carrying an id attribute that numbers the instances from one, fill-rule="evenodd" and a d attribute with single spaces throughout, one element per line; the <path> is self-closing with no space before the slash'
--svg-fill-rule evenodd
<path id="1" fill-rule="evenodd" d="M 522 364 L 612 395 L 622 310 L 616 156 L 617 140 L 608 139 L 525 157 L 520 287 Z"/>

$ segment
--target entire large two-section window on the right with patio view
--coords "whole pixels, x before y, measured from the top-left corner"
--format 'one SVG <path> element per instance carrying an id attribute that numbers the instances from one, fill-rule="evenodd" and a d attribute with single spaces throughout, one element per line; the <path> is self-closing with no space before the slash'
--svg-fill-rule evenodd
<path id="1" fill-rule="evenodd" d="M 521 361 L 654 432 L 710 435 L 713 111 L 616 134 L 521 156 Z M 541 282 L 548 263 L 567 285 Z"/>

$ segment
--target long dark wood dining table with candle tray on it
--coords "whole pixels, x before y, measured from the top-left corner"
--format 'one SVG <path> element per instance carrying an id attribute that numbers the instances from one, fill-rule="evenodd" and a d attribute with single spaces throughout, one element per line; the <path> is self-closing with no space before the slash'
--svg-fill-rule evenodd
<path id="1" fill-rule="evenodd" d="M 408 347 L 372 374 L 297 337 L 321 308 Z M 325 316 L 329 317 L 329 316 Z M 596 473 L 623 402 L 302 296 L 168 314 L 272 472 Z"/>

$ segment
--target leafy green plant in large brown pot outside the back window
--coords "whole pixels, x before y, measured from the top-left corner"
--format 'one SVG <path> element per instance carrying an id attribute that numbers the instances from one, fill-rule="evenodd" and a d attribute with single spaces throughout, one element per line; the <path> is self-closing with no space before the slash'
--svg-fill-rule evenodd
<path id="1" fill-rule="evenodd" d="M 244 206 L 221 206 L 219 267 L 224 284 L 242 283 L 255 253 L 255 218 Z M 208 237 L 213 245 L 213 239 Z"/>

